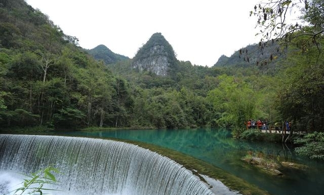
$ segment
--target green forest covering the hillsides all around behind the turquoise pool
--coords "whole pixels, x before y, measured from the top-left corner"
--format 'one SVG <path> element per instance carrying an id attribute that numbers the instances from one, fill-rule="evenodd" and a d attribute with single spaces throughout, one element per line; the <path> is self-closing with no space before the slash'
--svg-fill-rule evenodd
<path id="1" fill-rule="evenodd" d="M 278 2 L 285 10 L 295 1 Z M 46 14 L 23 0 L 0 0 L 0 128 L 226 127 L 235 133 L 249 119 L 267 118 L 323 131 L 323 4 L 306 2 L 307 25 L 285 24 L 285 34 L 274 31 L 282 11 L 251 8 L 268 30 L 259 44 L 237 48 L 213 67 L 173 58 L 170 74 L 157 76 L 133 69 L 124 56 L 110 64 L 95 60 Z"/>

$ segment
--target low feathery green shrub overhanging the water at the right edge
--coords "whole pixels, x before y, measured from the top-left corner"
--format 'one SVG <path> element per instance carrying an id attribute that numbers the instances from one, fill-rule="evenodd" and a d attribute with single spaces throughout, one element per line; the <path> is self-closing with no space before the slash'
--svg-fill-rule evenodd
<path id="1" fill-rule="evenodd" d="M 308 133 L 304 137 L 299 137 L 294 141 L 302 146 L 295 148 L 299 155 L 307 156 L 311 159 L 324 160 L 324 133 Z"/>

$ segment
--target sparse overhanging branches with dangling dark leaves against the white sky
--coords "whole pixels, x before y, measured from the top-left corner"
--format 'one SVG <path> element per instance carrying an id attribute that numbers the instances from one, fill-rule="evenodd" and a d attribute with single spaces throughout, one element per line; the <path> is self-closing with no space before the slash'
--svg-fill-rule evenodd
<path id="1" fill-rule="evenodd" d="M 261 27 L 261 33 L 267 40 L 277 38 L 289 38 L 294 39 L 294 36 L 290 36 L 296 31 L 304 31 L 303 35 L 313 36 L 314 39 L 319 38 L 317 35 L 323 31 L 323 2 L 320 0 L 312 1 L 269 1 L 261 2 L 254 7 L 254 10 L 250 12 L 250 16 L 254 15 L 257 18 L 257 26 Z M 302 15 L 300 19 L 308 22 L 307 26 L 303 26 L 298 23 L 292 24 L 293 14 L 295 16 L 298 12 Z M 295 17 L 294 16 L 294 17 Z M 315 31 L 307 30 L 308 27 L 315 27 Z M 290 37 L 288 37 L 288 36 Z M 262 39 L 261 39 L 262 41 Z"/>

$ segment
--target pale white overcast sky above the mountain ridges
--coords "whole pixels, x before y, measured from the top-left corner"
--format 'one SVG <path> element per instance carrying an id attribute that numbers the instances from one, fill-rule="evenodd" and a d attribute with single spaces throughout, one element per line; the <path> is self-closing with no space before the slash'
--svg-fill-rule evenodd
<path id="1" fill-rule="evenodd" d="M 160 32 L 178 60 L 213 66 L 221 55 L 260 40 L 249 12 L 260 0 L 26 0 L 91 49 L 106 45 L 133 58 Z"/>

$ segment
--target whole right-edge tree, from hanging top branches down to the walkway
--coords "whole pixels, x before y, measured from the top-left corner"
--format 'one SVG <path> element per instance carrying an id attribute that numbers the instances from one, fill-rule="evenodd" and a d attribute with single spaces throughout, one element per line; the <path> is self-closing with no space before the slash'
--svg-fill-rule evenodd
<path id="1" fill-rule="evenodd" d="M 300 21 L 292 23 L 290 12 L 299 13 Z M 322 0 L 271 0 L 260 3 L 250 12 L 258 19 L 261 41 L 279 40 L 288 52 L 285 64 L 291 68 L 285 71 L 289 75 L 286 85 L 278 91 L 277 109 L 282 119 L 293 120 L 302 130 L 324 129 L 323 13 Z M 265 43 L 261 41 L 262 49 Z"/>

